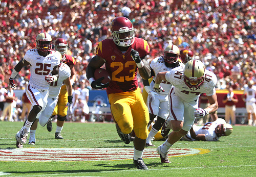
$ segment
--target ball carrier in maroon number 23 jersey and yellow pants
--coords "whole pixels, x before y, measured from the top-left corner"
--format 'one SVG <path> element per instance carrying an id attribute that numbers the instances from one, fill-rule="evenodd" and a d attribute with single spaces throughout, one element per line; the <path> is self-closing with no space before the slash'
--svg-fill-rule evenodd
<path id="1" fill-rule="evenodd" d="M 147 42 L 136 38 L 132 22 L 126 17 L 117 17 L 111 22 L 113 39 L 101 41 L 87 67 L 87 78 L 94 89 L 106 87 L 111 105 L 111 113 L 120 138 L 130 143 L 130 133 L 134 130 L 134 165 L 147 169 L 142 154 L 147 138 L 148 109 L 138 87 L 137 71 L 145 80 L 150 78 L 151 69 L 146 61 L 150 52 Z M 111 81 L 102 84 L 95 81 L 94 71 L 105 64 L 111 73 Z"/>

